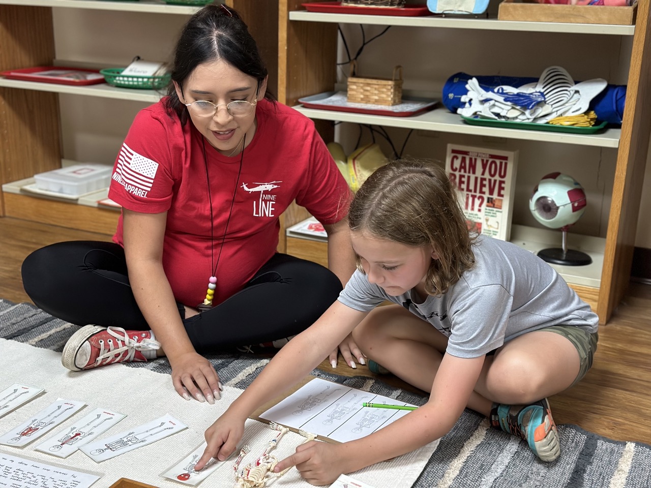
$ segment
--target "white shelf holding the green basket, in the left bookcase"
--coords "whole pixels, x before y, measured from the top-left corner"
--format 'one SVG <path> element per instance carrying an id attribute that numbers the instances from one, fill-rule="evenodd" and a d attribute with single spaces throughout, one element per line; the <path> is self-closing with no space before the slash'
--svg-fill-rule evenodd
<path id="1" fill-rule="evenodd" d="M 2 0 L 0 0 L 1 2 Z M 131 100 L 133 102 L 158 102 L 165 93 L 155 90 L 138 90 L 135 88 L 117 88 L 107 83 L 98 85 L 60 85 L 57 83 L 40 83 L 39 81 L 21 81 L 0 77 L 0 87 L 21 88 L 23 90 L 36 90 L 40 92 L 66 93 L 72 95 L 98 96 L 102 98 L 115 98 L 117 100 Z"/>

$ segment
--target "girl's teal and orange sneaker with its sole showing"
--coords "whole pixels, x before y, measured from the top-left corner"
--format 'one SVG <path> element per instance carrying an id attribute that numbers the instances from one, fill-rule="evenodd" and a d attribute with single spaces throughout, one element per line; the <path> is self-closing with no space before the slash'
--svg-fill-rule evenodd
<path id="1" fill-rule="evenodd" d="M 493 427 L 527 441 L 541 461 L 553 461 L 561 454 L 559 431 L 551 416 L 547 398 L 531 405 L 493 403 L 490 422 Z"/>

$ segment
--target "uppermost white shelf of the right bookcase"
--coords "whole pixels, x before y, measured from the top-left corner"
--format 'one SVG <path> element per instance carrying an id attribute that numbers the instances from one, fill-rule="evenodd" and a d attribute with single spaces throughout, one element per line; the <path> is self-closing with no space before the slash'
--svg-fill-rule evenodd
<path id="1" fill-rule="evenodd" d="M 448 29 L 483 29 L 486 31 L 525 31 L 568 34 L 611 34 L 632 36 L 635 25 L 561 23 L 561 22 L 523 22 L 515 20 L 452 18 L 442 16 L 403 17 L 362 14 L 325 14 L 294 10 L 289 12 L 289 20 L 361 23 L 367 25 L 404 25 L 412 27 L 445 27 Z"/>

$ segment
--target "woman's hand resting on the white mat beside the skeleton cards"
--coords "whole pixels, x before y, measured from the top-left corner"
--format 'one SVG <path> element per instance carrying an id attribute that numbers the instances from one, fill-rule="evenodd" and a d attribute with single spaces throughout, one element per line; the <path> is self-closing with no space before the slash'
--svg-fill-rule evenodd
<path id="1" fill-rule="evenodd" d="M 195 398 L 208 401 L 210 405 L 221 398 L 219 375 L 201 354 L 183 353 L 174 359 L 169 358 L 169 363 L 172 366 L 172 383 L 180 396 L 186 400 Z"/>

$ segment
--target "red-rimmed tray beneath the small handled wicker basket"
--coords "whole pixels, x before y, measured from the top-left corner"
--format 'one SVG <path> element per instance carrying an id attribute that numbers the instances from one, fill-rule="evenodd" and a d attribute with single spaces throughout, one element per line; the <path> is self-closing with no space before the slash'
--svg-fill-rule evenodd
<path id="1" fill-rule="evenodd" d="M 298 99 L 307 109 L 334 110 L 338 112 L 410 117 L 434 109 L 437 100 L 430 98 L 402 97 L 402 103 L 393 106 L 346 102 L 346 92 L 323 92 Z"/>

